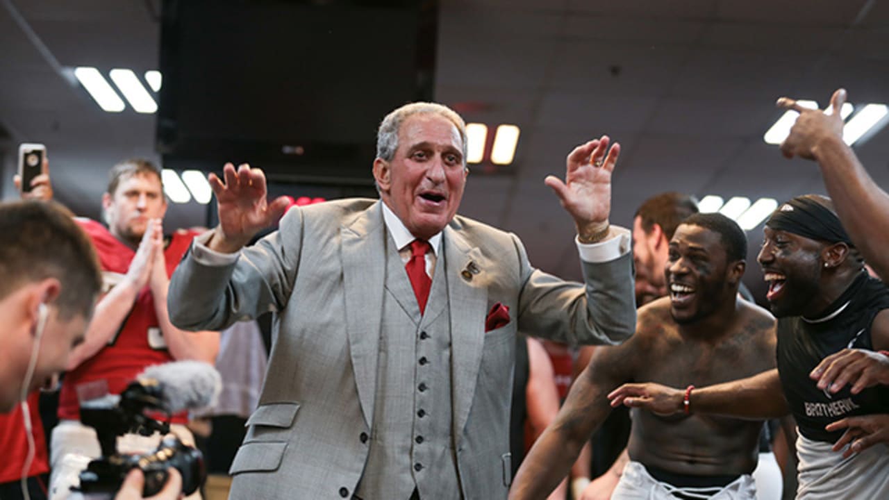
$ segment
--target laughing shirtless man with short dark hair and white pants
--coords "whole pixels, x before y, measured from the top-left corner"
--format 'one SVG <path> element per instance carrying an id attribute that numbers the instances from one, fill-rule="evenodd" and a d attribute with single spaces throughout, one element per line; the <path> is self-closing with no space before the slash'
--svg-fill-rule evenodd
<path id="1" fill-rule="evenodd" d="M 747 240 L 721 214 L 695 214 L 676 230 L 665 268 L 669 296 L 638 311 L 637 332 L 598 350 L 575 382 L 556 423 L 519 469 L 510 498 L 541 498 L 573 463 L 611 407 L 621 383 L 645 380 L 685 387 L 754 375 L 775 366 L 774 321 L 738 297 Z M 746 375 L 741 375 L 746 374 Z M 637 412 L 631 462 L 613 498 L 753 498 L 762 423 L 701 415 Z M 715 495 L 719 496 L 715 496 Z"/>

